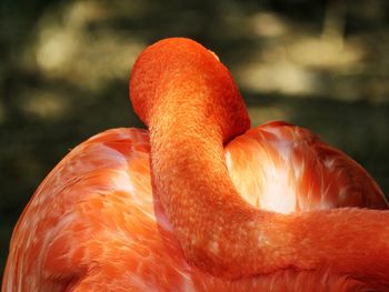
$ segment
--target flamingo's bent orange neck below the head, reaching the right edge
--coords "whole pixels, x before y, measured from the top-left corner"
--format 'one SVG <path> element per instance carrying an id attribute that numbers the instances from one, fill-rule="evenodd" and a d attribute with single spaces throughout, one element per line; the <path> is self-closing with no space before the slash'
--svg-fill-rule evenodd
<path id="1" fill-rule="evenodd" d="M 150 123 L 153 191 L 189 262 L 228 279 L 292 268 L 389 284 L 388 212 L 253 209 L 231 182 L 218 127 L 199 109 L 161 107 Z"/>

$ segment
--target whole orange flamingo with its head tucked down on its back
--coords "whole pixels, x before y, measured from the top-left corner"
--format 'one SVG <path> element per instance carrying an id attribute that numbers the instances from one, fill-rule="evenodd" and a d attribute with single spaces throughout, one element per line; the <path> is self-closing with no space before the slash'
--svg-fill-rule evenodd
<path id="1" fill-rule="evenodd" d="M 130 99 L 148 127 L 74 148 L 10 243 L 2 292 L 388 291 L 388 203 L 307 129 L 253 129 L 218 57 L 147 48 Z"/>

